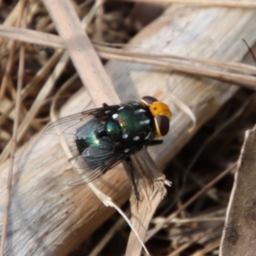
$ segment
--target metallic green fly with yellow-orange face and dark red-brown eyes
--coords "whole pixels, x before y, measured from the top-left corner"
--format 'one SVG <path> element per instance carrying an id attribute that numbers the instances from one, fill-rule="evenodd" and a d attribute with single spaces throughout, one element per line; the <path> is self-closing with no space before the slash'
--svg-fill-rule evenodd
<path id="1" fill-rule="evenodd" d="M 140 102 L 93 108 L 50 123 L 44 133 L 67 137 L 73 159 L 83 170 L 84 183 L 108 172 L 131 154 L 162 143 L 170 127 L 168 106 L 152 96 Z M 59 129 L 56 131 L 56 128 Z"/>

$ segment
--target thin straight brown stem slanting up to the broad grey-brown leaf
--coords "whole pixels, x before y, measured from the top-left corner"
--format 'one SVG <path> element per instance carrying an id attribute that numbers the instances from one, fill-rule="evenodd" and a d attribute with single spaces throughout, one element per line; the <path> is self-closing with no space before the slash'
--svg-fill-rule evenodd
<path id="1" fill-rule="evenodd" d="M 197 198 L 199 198 L 201 195 L 205 194 L 207 192 L 207 190 L 211 189 L 214 184 L 218 183 L 218 181 L 220 181 L 223 177 L 225 177 L 227 174 L 232 172 L 236 168 L 236 166 L 237 166 L 237 164 L 235 163 L 232 166 L 230 166 L 227 170 L 225 170 L 224 172 L 219 174 L 218 177 L 215 177 L 210 183 L 207 183 L 207 185 L 204 186 L 204 188 L 202 188 L 199 192 L 197 192 L 194 196 L 192 196 L 189 199 L 189 201 L 184 203 L 183 206 L 180 207 L 176 212 L 173 212 L 168 218 L 166 218 L 166 221 L 164 223 L 156 225 L 156 227 L 153 230 L 149 230 L 148 235 L 146 237 L 146 241 L 148 241 L 148 239 L 150 239 L 152 236 L 154 236 L 154 234 L 156 234 L 166 224 L 171 223 L 173 218 L 176 218 L 178 214 L 180 214 L 181 212 L 183 212 L 184 209 L 189 207 L 189 205 L 191 205 Z"/>

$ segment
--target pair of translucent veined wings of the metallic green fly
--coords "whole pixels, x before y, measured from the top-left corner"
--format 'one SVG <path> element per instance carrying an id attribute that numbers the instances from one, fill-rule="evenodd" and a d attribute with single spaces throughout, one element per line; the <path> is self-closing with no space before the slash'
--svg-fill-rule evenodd
<path id="1" fill-rule="evenodd" d="M 101 147 L 90 146 L 84 152 L 79 153 L 76 138 L 83 125 L 86 129 L 95 130 L 97 125 L 104 125 L 109 114 L 113 109 L 120 106 L 105 106 L 103 108 L 94 108 L 82 113 L 76 113 L 49 124 L 44 134 L 54 134 L 61 137 L 67 143 L 72 155 L 71 163 L 76 173 L 79 173 L 79 180 L 71 181 L 69 185 L 80 185 L 90 183 L 97 177 L 102 176 L 113 166 L 118 165 L 131 154 L 135 154 L 138 148 L 122 148 L 113 152 L 114 145 L 108 141 L 101 141 Z"/>

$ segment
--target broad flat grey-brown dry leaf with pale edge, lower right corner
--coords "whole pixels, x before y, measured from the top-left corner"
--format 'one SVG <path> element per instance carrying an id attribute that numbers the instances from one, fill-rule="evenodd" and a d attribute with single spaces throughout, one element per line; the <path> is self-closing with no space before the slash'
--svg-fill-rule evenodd
<path id="1" fill-rule="evenodd" d="M 220 245 L 221 256 L 254 255 L 256 125 L 246 132 L 245 141 L 230 195 Z"/>

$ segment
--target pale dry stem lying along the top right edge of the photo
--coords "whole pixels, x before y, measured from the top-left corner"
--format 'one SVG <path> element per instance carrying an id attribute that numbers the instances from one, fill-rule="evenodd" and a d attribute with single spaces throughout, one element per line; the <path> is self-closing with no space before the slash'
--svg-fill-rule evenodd
<path id="1" fill-rule="evenodd" d="M 121 2 L 135 2 L 135 3 L 155 3 L 157 0 L 119 0 Z M 253 1 L 233 1 L 233 0 L 225 0 L 225 1 L 214 1 L 214 0 L 161 0 L 162 3 L 183 3 L 187 5 L 197 5 L 197 6 L 208 6 L 208 7 L 236 7 L 236 8 L 253 8 L 256 7 L 256 3 Z"/>

